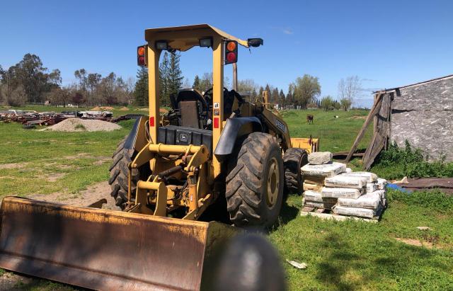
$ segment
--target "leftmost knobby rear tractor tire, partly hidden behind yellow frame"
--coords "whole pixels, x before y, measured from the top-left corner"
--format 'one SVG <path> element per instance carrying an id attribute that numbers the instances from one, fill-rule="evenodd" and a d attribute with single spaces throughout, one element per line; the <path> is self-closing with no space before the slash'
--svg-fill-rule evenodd
<path id="1" fill-rule="evenodd" d="M 115 199 L 115 205 L 121 207 L 122 210 L 125 208 L 127 202 L 127 176 L 129 175 L 129 169 L 127 165 L 132 161 L 134 155 L 134 149 L 126 149 L 125 141 L 127 137 L 118 144 L 118 147 L 113 154 L 113 162 L 110 166 L 110 184 L 111 192 L 110 195 Z M 135 189 L 137 188 L 137 181 L 139 181 L 138 169 L 132 169 L 132 181 L 131 181 L 131 193 L 135 195 Z"/>

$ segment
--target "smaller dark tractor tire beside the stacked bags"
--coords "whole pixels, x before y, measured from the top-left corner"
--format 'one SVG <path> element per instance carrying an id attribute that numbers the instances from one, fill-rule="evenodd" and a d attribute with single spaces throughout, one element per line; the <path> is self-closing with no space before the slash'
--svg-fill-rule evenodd
<path id="1" fill-rule="evenodd" d="M 292 147 L 283 156 L 285 166 L 285 196 L 289 194 L 302 195 L 304 192 L 304 177 L 300 169 L 309 163 L 309 155 L 304 149 Z"/>

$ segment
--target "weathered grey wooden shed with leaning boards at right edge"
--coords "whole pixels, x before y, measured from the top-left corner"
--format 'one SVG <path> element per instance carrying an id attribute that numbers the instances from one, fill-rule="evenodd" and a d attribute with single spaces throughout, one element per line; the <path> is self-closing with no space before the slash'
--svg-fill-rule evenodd
<path id="1" fill-rule="evenodd" d="M 431 160 L 453 161 L 453 75 L 374 92 L 374 104 L 346 160 L 350 160 L 365 129 L 374 121 L 372 141 L 363 156 L 369 169 L 389 143 L 406 140 Z"/>

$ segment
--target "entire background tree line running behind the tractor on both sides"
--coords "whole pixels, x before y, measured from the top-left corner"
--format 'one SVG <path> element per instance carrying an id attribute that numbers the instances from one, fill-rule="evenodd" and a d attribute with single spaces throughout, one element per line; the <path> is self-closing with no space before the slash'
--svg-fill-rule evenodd
<path id="1" fill-rule="evenodd" d="M 43 67 L 40 57 L 26 54 L 21 62 L 8 69 L 0 66 L 0 103 L 6 105 L 24 105 L 25 103 L 44 103 L 55 105 L 147 105 L 148 72 L 146 67 L 138 69 L 136 80 L 122 79 L 114 72 L 102 76 L 97 72 L 78 69 L 74 72 L 75 82 L 62 85 L 59 69 L 49 71 Z M 224 86 L 229 87 L 229 79 L 224 79 Z M 170 105 L 170 96 L 182 88 L 191 87 L 201 92 L 212 88 L 212 73 L 196 75 L 193 84 L 184 78 L 180 69 L 180 54 L 164 52 L 159 64 L 159 98 L 161 105 Z M 238 91 L 247 93 L 251 101 L 263 96 L 268 91 L 270 103 L 280 108 L 323 108 L 325 110 L 349 110 L 362 87 L 358 76 L 340 79 L 338 83 L 338 101 L 331 96 L 321 96 L 319 78 L 304 74 L 289 84 L 287 93 L 271 84 L 260 86 L 253 79 L 239 80 Z"/>

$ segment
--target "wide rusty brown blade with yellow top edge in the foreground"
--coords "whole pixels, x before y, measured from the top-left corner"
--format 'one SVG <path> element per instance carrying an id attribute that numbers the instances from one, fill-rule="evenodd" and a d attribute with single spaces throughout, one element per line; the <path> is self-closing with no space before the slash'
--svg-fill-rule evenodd
<path id="1" fill-rule="evenodd" d="M 200 290 L 236 232 L 219 222 L 6 197 L 0 267 L 95 290 Z"/>

